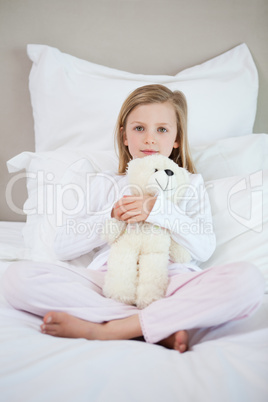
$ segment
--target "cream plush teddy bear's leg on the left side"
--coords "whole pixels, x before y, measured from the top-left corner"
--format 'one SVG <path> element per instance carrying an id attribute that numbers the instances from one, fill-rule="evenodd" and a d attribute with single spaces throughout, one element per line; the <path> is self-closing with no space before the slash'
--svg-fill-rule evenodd
<path id="1" fill-rule="evenodd" d="M 112 246 L 103 294 L 126 304 L 135 304 L 139 237 L 123 234 Z"/>

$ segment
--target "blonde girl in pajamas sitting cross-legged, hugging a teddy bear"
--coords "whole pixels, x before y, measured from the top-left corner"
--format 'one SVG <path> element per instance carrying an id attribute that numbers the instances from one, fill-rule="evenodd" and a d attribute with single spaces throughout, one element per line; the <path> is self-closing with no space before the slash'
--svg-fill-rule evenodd
<path id="1" fill-rule="evenodd" d="M 124 102 L 116 127 L 119 175 L 97 177 L 90 195 L 91 211 L 76 219 L 86 233 L 59 228 L 55 251 L 72 260 L 97 249 L 89 269 L 69 263 L 18 262 L 5 275 L 5 296 L 17 309 L 43 316 L 41 331 L 61 337 L 134 339 L 160 343 L 180 352 L 188 349 L 188 330 L 220 325 L 249 316 L 260 305 L 264 281 L 249 263 L 234 263 L 201 271 L 198 262 L 215 249 L 209 201 L 200 175 L 194 174 L 187 141 L 187 105 L 184 95 L 161 85 L 135 90 Z M 190 173 L 190 185 L 175 208 L 163 210 L 157 197 L 130 196 L 126 166 L 132 158 L 160 153 Z M 161 211 L 161 213 L 160 213 Z M 128 223 L 147 221 L 172 228 L 172 237 L 187 248 L 188 264 L 169 264 L 166 297 L 143 310 L 102 294 L 109 246 L 98 234 L 106 219 Z"/>

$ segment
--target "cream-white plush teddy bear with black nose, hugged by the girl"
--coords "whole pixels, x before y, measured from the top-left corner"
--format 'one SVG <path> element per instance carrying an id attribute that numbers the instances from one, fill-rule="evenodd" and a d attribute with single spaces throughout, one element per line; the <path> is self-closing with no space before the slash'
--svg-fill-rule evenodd
<path id="1" fill-rule="evenodd" d="M 163 192 L 177 205 L 189 177 L 185 169 L 162 155 L 130 161 L 127 173 L 133 195 Z M 140 309 L 165 296 L 169 259 L 179 263 L 191 259 L 189 252 L 172 240 L 168 229 L 146 221 L 127 224 L 111 218 L 105 223 L 104 237 L 111 251 L 103 293 Z"/>

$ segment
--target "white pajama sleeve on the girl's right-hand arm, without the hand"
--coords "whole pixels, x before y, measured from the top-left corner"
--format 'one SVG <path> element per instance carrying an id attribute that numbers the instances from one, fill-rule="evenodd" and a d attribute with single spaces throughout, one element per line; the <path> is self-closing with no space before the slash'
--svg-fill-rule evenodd
<path id="1" fill-rule="evenodd" d="M 206 261 L 215 250 L 210 202 L 201 175 L 190 176 L 179 205 L 160 194 L 147 222 L 169 229 L 173 240 L 184 246 L 194 260 Z"/>

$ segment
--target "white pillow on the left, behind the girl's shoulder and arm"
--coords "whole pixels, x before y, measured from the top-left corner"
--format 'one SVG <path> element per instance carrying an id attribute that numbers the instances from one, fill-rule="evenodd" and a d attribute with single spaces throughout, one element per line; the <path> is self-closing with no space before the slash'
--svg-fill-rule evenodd
<path id="1" fill-rule="evenodd" d="M 118 159 L 111 152 L 90 155 L 61 149 L 22 152 L 10 159 L 7 166 L 9 172 L 26 170 L 28 198 L 23 212 L 27 215 L 27 222 L 23 237 L 27 255 L 36 261 L 55 261 L 53 239 L 56 227 L 80 208 L 77 199 L 80 197 L 81 200 L 81 195 L 86 194 L 89 179 L 97 172 L 115 172 Z M 88 263 L 88 258 L 92 256 L 82 259 Z"/>

